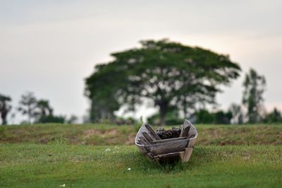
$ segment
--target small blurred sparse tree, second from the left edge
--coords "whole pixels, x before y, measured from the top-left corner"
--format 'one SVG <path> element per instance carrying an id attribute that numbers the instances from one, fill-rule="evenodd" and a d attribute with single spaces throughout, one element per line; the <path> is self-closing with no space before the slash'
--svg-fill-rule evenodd
<path id="1" fill-rule="evenodd" d="M 27 92 L 21 95 L 18 111 L 23 115 L 27 115 L 27 122 L 32 123 L 32 119 L 35 119 L 38 116 L 37 112 L 37 99 L 35 98 L 34 93 Z"/>

